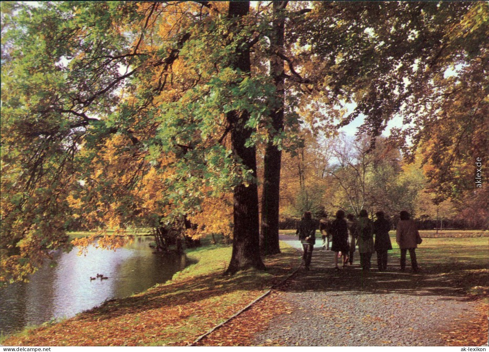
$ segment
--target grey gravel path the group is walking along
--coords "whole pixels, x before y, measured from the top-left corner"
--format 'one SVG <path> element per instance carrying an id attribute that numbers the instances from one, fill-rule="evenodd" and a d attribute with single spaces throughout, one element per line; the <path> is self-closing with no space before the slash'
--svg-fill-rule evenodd
<path id="1" fill-rule="evenodd" d="M 301 247 L 293 237 L 281 239 Z M 311 270 L 301 268 L 277 288 L 293 310 L 273 318 L 253 344 L 446 346 L 440 332 L 474 311 L 473 302 L 438 275 L 400 272 L 398 260 L 386 272 L 364 273 L 358 261 L 356 252 L 354 265 L 336 272 L 333 252 L 315 248 Z M 374 268 L 376 261 L 374 254 Z"/>

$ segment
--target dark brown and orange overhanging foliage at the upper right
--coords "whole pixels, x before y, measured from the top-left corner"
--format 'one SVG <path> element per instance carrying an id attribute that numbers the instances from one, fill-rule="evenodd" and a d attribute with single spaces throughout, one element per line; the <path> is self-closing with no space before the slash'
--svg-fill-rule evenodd
<path id="1" fill-rule="evenodd" d="M 340 125 L 363 114 L 360 132 L 372 137 L 397 116 L 402 126 L 391 129 L 390 140 L 405 155 L 421 147 L 432 167 L 430 187 L 445 197 L 474 190 L 473 159 L 489 155 L 489 4 L 314 5 L 294 27 L 302 44 L 295 60 L 309 73 L 315 106 L 322 103 L 331 116 L 315 109 L 311 124 L 331 128 L 342 99 L 356 108 Z"/>

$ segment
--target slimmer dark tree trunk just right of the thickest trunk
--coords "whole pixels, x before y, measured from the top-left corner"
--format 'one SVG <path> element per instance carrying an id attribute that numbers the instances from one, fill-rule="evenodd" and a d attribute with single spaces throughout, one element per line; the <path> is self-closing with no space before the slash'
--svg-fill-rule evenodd
<path id="1" fill-rule="evenodd" d="M 284 17 L 281 14 L 288 1 L 274 1 L 272 23 L 273 34 L 270 37 L 270 46 L 273 52 L 283 53 L 284 50 Z M 278 225 L 280 202 L 280 165 L 282 151 L 273 144 L 275 133 L 284 128 L 284 60 L 278 55 L 270 59 L 270 76 L 276 87 L 276 107 L 272 110 L 270 118 L 273 130 L 268 133 L 268 143 L 264 158 L 264 180 L 262 194 L 262 222 L 260 244 L 262 253 L 280 253 Z"/>

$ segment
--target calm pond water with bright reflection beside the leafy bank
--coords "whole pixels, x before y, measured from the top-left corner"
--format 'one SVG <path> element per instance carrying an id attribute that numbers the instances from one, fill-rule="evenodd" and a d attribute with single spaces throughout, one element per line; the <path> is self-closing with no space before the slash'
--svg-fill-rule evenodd
<path id="1" fill-rule="evenodd" d="M 29 325 L 72 317 L 112 297 L 122 298 L 170 280 L 185 267 L 185 256 L 153 254 L 151 237 L 136 238 L 116 251 L 90 247 L 86 256 L 75 248 L 57 253 L 31 276 L 30 282 L 0 290 L 0 330 L 8 334 Z M 92 280 L 96 274 L 108 280 Z"/>

